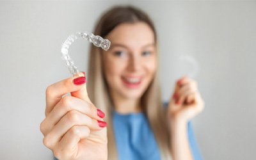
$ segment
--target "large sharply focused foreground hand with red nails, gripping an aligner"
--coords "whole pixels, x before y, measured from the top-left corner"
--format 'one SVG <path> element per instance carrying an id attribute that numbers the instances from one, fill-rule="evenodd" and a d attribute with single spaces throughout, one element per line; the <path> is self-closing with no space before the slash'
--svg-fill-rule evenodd
<path id="1" fill-rule="evenodd" d="M 79 75 L 47 87 L 45 119 L 40 125 L 44 145 L 61 160 L 108 159 L 104 113 L 90 101 L 84 74 Z M 72 96 L 63 97 L 69 92 Z"/>

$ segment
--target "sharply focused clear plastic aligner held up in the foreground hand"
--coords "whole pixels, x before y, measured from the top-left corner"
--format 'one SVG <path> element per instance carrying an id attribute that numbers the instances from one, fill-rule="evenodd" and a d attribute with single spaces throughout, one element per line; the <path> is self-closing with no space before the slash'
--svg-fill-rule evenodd
<path id="1" fill-rule="evenodd" d="M 65 64 L 67 65 L 70 74 L 73 74 L 73 76 L 77 74 L 79 70 L 74 65 L 74 61 L 72 61 L 70 56 L 68 55 L 68 48 L 78 38 L 84 38 L 85 40 L 88 40 L 96 47 L 101 47 L 105 51 L 108 51 L 111 44 L 111 42 L 108 39 L 104 39 L 101 36 L 93 35 L 92 33 L 87 34 L 87 33 L 77 32 L 73 35 L 68 36 L 67 40 L 65 40 L 65 42 L 61 46 L 61 53 L 62 53 L 61 58 L 63 61 L 65 61 Z"/>

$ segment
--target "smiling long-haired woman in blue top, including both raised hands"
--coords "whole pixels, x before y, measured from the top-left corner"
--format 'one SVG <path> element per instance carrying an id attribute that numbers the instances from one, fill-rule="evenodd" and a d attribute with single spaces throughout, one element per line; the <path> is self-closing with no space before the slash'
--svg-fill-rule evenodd
<path id="1" fill-rule="evenodd" d="M 89 94 L 82 72 L 47 87 L 40 125 L 44 145 L 58 159 L 200 159 L 188 122 L 204 102 L 196 82 L 182 77 L 163 106 L 157 36 L 149 17 L 117 6 L 94 33 L 108 38 L 111 47 L 91 46 Z"/>

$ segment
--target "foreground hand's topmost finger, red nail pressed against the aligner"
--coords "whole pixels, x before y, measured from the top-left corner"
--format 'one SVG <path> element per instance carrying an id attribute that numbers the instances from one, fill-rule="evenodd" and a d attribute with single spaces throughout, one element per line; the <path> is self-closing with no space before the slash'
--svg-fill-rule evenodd
<path id="1" fill-rule="evenodd" d="M 74 76 L 48 86 L 46 89 L 45 115 L 52 111 L 52 108 L 60 101 L 63 95 L 80 90 L 84 83 L 85 77 Z"/>

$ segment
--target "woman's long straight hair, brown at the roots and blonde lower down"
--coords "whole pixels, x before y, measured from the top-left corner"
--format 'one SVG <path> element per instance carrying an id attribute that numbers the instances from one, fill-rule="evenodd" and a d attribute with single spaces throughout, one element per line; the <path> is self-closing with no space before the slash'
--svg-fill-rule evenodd
<path id="1" fill-rule="evenodd" d="M 146 13 L 132 6 L 115 6 L 104 13 L 95 27 L 94 34 L 106 37 L 116 26 L 124 22 L 147 23 L 154 32 L 155 42 L 157 43 L 156 29 L 154 28 L 152 20 L 150 20 Z M 113 102 L 102 70 L 101 50 L 93 45 L 90 47 L 89 70 L 86 77 L 89 79 L 87 86 L 90 99 L 97 108 L 102 109 L 102 111 L 106 113 L 106 122 L 108 122 L 108 159 L 118 159 L 111 117 Z M 166 124 L 166 114 L 164 114 L 166 112 L 164 112 L 161 102 L 158 70 L 156 76 L 154 76 L 154 79 L 141 97 L 141 106 L 156 137 L 162 159 L 171 159 L 170 134 Z"/>

